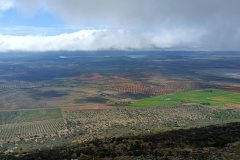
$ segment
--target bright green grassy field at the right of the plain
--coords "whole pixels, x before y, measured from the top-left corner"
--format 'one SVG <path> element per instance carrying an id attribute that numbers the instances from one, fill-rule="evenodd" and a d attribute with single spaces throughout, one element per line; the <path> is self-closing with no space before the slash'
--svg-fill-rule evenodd
<path id="1" fill-rule="evenodd" d="M 143 99 L 129 104 L 129 107 L 168 106 L 189 103 L 209 106 L 240 104 L 240 94 L 215 89 L 196 90 Z"/>

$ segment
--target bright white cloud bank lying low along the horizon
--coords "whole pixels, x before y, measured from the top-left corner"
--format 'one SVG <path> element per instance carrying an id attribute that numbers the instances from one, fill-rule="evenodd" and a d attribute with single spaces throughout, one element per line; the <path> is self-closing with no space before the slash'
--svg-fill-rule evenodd
<path id="1" fill-rule="evenodd" d="M 189 43 L 197 43 L 197 37 L 201 37 L 201 34 L 195 30 L 169 31 L 164 29 L 158 34 L 124 30 L 81 30 L 55 36 L 0 35 L 0 51 L 183 48 L 189 47 Z"/>

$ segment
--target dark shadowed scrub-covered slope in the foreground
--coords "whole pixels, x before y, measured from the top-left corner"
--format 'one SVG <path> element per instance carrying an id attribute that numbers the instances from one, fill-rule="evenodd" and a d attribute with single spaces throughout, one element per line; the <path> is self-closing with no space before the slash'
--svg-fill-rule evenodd
<path id="1" fill-rule="evenodd" d="M 233 159 L 240 158 L 240 123 L 156 135 L 106 138 L 1 159 Z"/>

